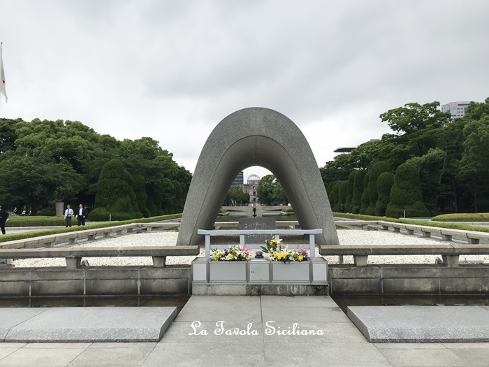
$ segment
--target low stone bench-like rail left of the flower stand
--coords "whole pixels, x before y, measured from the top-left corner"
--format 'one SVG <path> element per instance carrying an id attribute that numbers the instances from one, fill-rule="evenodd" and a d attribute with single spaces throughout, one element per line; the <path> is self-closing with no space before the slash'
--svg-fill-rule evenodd
<path id="1" fill-rule="evenodd" d="M 0 249 L 0 259 L 66 259 L 66 268 L 80 268 L 82 257 L 152 257 L 154 268 L 166 266 L 167 256 L 200 254 L 198 246 L 79 247 L 50 249 Z"/>

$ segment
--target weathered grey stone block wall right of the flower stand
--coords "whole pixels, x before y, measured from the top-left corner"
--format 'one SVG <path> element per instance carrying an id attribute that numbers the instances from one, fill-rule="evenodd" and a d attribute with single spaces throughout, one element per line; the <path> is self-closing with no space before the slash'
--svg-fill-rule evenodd
<path id="1" fill-rule="evenodd" d="M 330 265 L 330 294 L 488 294 L 489 264 Z"/>

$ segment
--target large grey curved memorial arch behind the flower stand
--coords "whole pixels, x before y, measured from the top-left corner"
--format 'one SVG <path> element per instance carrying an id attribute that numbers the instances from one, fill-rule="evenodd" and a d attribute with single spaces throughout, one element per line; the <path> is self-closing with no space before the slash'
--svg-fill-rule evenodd
<path id="1" fill-rule="evenodd" d="M 270 170 L 282 185 L 302 229 L 323 229 L 319 245 L 339 245 L 328 195 L 302 131 L 268 108 L 245 108 L 214 128 L 200 152 L 185 202 L 177 245 L 203 241 L 236 175 L 250 166 Z"/>

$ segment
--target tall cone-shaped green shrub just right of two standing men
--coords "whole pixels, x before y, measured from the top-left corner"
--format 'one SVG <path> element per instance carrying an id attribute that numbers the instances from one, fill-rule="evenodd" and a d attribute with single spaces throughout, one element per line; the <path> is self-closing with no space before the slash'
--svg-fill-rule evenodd
<path id="1" fill-rule="evenodd" d="M 143 217 L 139 211 L 133 178 L 126 171 L 122 161 L 112 159 L 103 166 L 97 182 L 95 209 L 89 214 L 90 220 L 129 220 Z"/>

